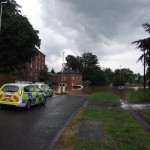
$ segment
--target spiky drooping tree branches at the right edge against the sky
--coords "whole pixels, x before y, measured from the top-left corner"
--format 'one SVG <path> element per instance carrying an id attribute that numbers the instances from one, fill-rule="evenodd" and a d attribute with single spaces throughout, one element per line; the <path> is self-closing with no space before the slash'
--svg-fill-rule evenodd
<path id="1" fill-rule="evenodd" d="M 150 34 L 150 24 L 146 23 L 142 26 L 145 31 Z M 150 73 L 150 37 L 134 41 L 133 44 L 137 44 L 137 48 L 143 52 L 143 54 L 139 57 L 138 61 L 141 60 L 144 64 L 145 59 L 145 64 L 147 65 L 147 73 Z"/>

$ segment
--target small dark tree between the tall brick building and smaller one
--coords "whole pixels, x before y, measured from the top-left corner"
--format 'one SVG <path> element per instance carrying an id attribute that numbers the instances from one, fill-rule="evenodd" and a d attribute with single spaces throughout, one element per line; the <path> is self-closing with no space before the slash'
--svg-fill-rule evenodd
<path id="1" fill-rule="evenodd" d="M 48 67 L 45 65 L 44 69 L 40 71 L 39 81 L 40 82 L 45 82 L 47 80 L 48 80 Z"/>

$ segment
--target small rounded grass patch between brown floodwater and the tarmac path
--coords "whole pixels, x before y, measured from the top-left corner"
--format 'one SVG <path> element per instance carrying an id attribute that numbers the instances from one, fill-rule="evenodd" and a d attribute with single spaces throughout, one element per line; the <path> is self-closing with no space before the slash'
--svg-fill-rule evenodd
<path id="1" fill-rule="evenodd" d="M 119 97 L 107 92 L 97 92 L 89 96 L 91 101 L 119 102 Z"/>

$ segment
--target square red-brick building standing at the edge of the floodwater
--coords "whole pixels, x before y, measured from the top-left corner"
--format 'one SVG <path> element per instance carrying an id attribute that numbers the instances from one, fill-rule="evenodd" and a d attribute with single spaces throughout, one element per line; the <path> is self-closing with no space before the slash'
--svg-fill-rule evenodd
<path id="1" fill-rule="evenodd" d="M 63 72 L 57 73 L 56 80 L 59 83 L 66 83 L 67 86 L 77 86 L 82 83 L 82 75 L 71 69 L 65 69 Z"/>

